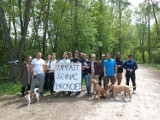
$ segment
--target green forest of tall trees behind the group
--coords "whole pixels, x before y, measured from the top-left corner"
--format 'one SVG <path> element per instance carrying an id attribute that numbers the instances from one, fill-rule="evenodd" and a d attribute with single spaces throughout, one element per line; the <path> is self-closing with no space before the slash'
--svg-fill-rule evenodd
<path id="1" fill-rule="evenodd" d="M 55 52 L 133 54 L 160 64 L 160 2 L 144 0 L 0 0 L 0 80 L 16 81 L 26 56 Z"/>

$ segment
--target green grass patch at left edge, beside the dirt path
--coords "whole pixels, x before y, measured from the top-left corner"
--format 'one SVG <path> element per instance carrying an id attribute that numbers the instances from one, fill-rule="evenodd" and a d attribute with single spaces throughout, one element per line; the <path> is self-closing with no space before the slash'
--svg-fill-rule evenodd
<path id="1" fill-rule="evenodd" d="M 0 96 L 14 95 L 21 91 L 21 81 L 13 82 L 0 82 Z"/>

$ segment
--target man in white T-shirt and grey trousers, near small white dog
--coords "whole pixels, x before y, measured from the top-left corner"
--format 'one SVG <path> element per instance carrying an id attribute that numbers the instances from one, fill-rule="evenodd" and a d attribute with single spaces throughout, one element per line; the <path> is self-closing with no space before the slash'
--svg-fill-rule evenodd
<path id="1" fill-rule="evenodd" d="M 31 62 L 32 65 L 32 83 L 31 83 L 31 92 L 34 92 L 36 86 L 36 81 L 39 81 L 39 92 L 43 96 L 43 85 L 44 85 L 44 71 L 45 71 L 45 61 L 41 58 L 41 52 L 37 52 L 37 58 L 34 58 Z"/>

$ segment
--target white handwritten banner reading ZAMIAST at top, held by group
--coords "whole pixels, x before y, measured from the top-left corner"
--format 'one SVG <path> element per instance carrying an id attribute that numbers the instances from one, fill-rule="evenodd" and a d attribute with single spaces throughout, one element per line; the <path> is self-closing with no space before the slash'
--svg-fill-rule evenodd
<path id="1" fill-rule="evenodd" d="M 57 63 L 54 91 L 81 91 L 81 63 Z"/>

